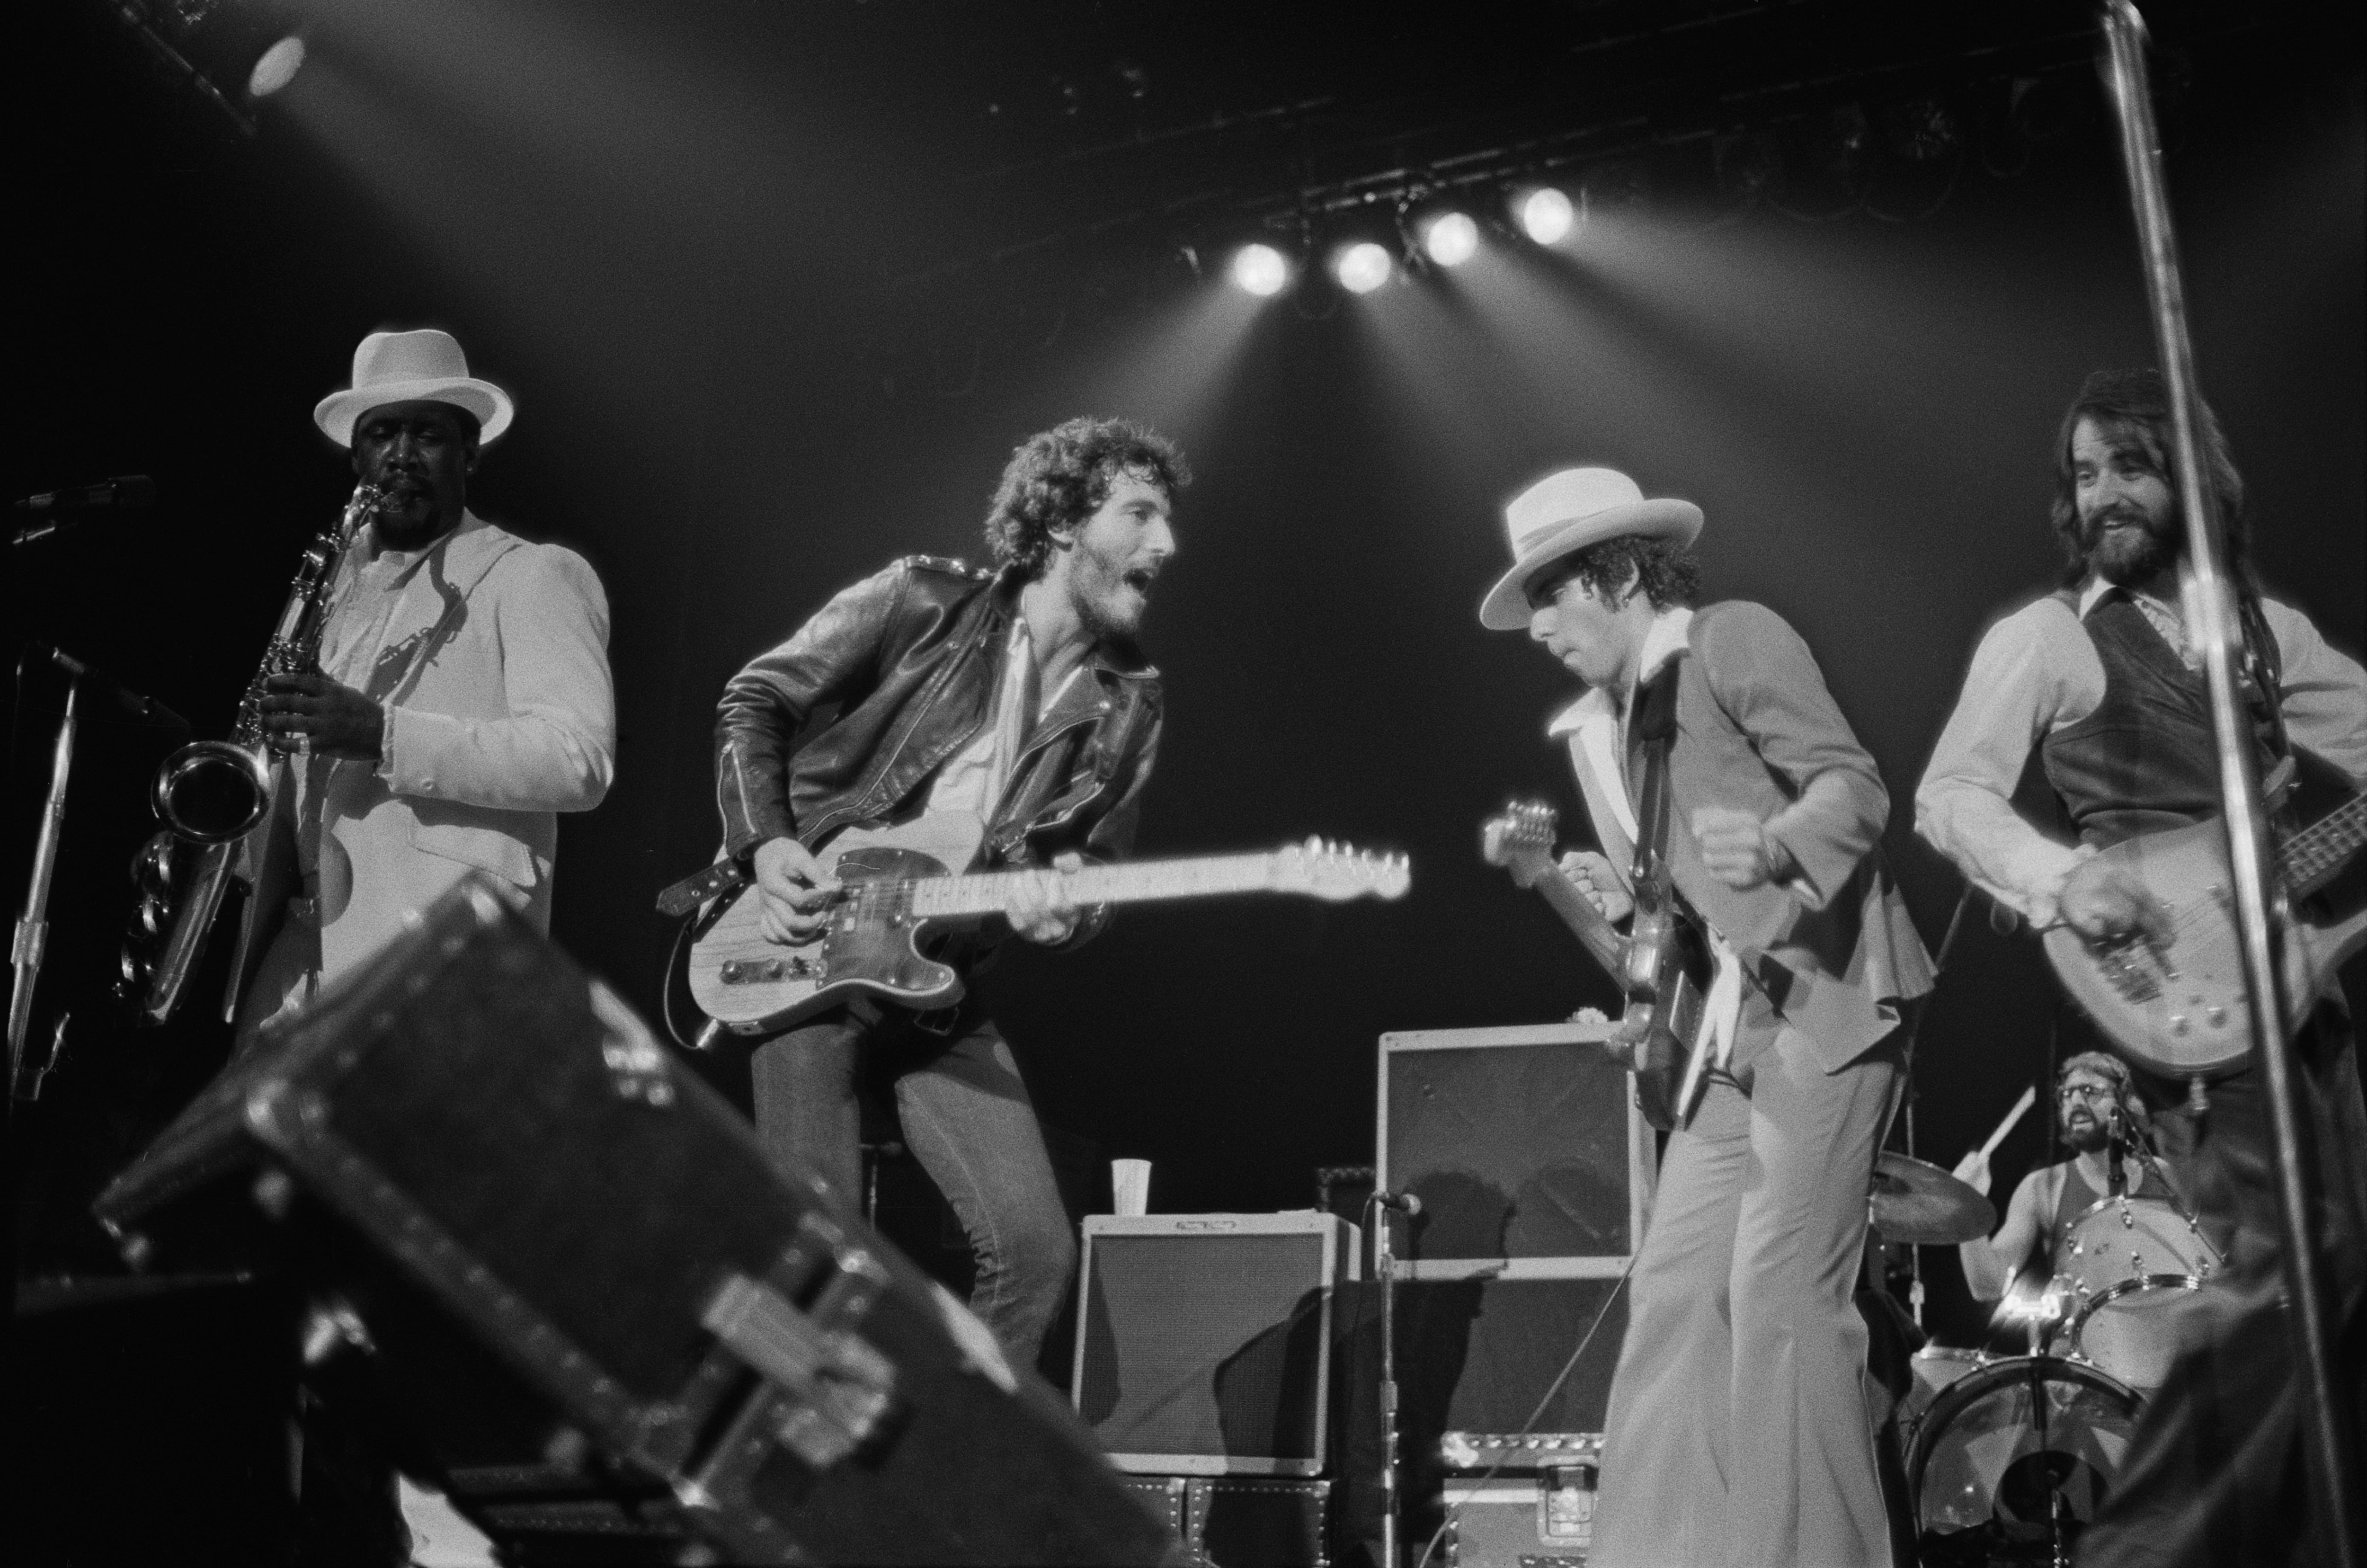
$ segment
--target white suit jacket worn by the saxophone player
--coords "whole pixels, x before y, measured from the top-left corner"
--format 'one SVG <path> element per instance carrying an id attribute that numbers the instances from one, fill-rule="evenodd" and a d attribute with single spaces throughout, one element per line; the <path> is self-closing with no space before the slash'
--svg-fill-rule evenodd
<path id="1" fill-rule="evenodd" d="M 388 708 L 376 765 L 284 758 L 272 770 L 272 820 L 246 841 L 253 898 L 232 971 L 241 988 L 303 891 L 289 767 L 312 770 L 322 812 L 324 983 L 471 869 L 516 888 L 528 919 L 549 931 L 556 812 L 592 810 L 608 793 L 608 597 L 573 550 L 466 514 L 402 587 L 360 687 Z"/>

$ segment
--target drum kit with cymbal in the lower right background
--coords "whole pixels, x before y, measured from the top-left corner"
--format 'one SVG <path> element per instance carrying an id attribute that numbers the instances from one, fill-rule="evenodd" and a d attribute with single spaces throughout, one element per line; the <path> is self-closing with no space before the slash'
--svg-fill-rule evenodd
<path id="1" fill-rule="evenodd" d="M 1884 1153 L 1868 1196 L 1884 1241 L 1950 1246 L 1995 1229 L 1988 1199 L 1939 1165 Z M 2021 1315 L 2029 1355 L 1924 1345 L 1901 1409 L 1924 1568 L 2066 1563 L 2161 1386 L 2180 1312 L 2218 1267 L 2163 1199 L 2090 1203 L 2062 1272 Z"/>

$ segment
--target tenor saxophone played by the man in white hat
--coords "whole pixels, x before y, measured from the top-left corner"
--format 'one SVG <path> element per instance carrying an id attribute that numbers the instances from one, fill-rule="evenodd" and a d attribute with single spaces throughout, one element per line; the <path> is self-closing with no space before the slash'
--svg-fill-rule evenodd
<path id="1" fill-rule="evenodd" d="M 206 938 L 222 914 L 222 898 L 237 881 L 239 846 L 263 829 L 272 812 L 272 753 L 265 746 L 263 699 L 272 675 L 308 675 L 320 668 L 320 637 L 329 618 L 329 590 L 353 535 L 379 507 L 379 488 L 360 483 L 336 523 L 322 528 L 296 564 L 289 599 L 263 649 L 263 666 L 239 699 L 239 722 L 230 739 L 189 741 L 163 760 L 149 803 L 163 831 L 133 857 L 130 928 L 116 995 L 140 1023 L 166 1023 L 182 1002 Z M 237 1014 L 239 978 L 230 978 L 222 1021 Z"/>

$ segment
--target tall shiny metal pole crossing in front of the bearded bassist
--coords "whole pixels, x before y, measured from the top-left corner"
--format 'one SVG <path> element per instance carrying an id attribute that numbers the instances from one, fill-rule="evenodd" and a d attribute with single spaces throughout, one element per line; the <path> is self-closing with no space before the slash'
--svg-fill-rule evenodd
<path id="1" fill-rule="evenodd" d="M 2277 964 L 2279 931 L 2272 921 L 2268 867 L 2268 822 L 2260 812 L 2260 784 L 2253 777 L 2251 725 L 2237 703 L 2234 658 L 2237 618 L 2225 571 L 2225 538 L 2216 495 L 2201 464 L 2201 407 L 2194 379 L 2194 348 L 2187 341 L 2185 287 L 2178 272 L 2178 246 L 2171 234 L 2171 204 L 2161 182 L 2161 140 L 2154 133 L 2154 99 L 2145 69 L 2145 19 L 2130 0 L 2104 2 L 2104 43 L 2109 81 L 2121 133 L 2121 161 L 2128 171 L 2128 194 L 2137 216 L 2137 242 L 2145 251 L 2145 291 L 2154 310 L 2154 339 L 2161 348 L 2161 379 L 2171 391 L 2171 433 L 2175 441 L 2178 500 L 2187 519 L 2187 568 L 2192 587 L 2194 632 L 2204 651 L 2204 677 L 2211 689 L 2211 722 L 2218 732 L 2220 793 L 2227 803 L 2227 867 L 2234 883 L 2234 917 L 2244 955 L 2244 992 L 2251 1009 L 2253 1052 L 2268 1087 L 2270 1132 L 2277 1163 L 2277 1217 L 2284 1241 L 2284 1284 L 2291 1298 L 2287 1324 L 2294 1338 L 2294 1364 L 2303 1379 L 2301 1424 L 2310 1457 L 2310 1480 L 2324 1504 L 2322 1523 L 2331 1561 L 2358 1561 L 2358 1521 L 2353 1518 L 2350 1433 L 2334 1405 L 2331 1360 L 2327 1355 L 2324 1277 L 2310 1236 L 2310 1184 L 2303 1172 L 2301 1094 L 2294 1059 L 2284 1037 L 2284 985 Z"/>

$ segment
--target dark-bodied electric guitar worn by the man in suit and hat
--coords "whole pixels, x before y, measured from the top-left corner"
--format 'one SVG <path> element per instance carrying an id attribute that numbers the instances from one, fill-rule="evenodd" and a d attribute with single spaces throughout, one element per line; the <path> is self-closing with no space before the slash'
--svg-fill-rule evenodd
<path id="1" fill-rule="evenodd" d="M 1610 1049 L 1636 1075 L 1643 1118 L 1664 1132 L 1683 1127 L 1707 1071 L 1690 1047 L 1709 995 L 1709 938 L 1676 898 L 1655 910 L 1638 900 L 1633 936 L 1619 936 L 1553 860 L 1557 824 L 1550 805 L 1513 801 L 1479 827 L 1479 857 L 1534 888 L 1619 985 L 1628 1002 Z"/>

